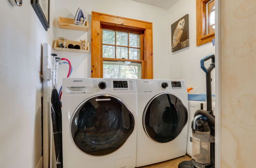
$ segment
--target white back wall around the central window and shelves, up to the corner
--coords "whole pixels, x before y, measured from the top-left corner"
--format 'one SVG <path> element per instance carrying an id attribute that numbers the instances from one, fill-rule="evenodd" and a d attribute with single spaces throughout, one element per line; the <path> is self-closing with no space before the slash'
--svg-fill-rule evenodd
<path id="1" fill-rule="evenodd" d="M 65 1 L 65 3 L 62 0 L 55 0 L 55 2 L 58 4 L 56 5 L 56 18 L 58 16 L 73 18 L 77 8 L 81 7 L 86 12 L 89 23 L 91 11 L 153 22 L 154 78 L 169 78 L 167 10 L 130 0 L 77 0 Z M 89 29 L 91 30 L 91 27 Z M 79 31 L 58 29 L 56 26 L 54 37 L 67 37 L 71 40 L 85 38 L 91 42 L 91 31 L 84 34 Z M 91 77 L 91 53 L 54 52 L 61 58 L 71 60 L 74 66 L 74 73 L 71 77 Z M 67 71 L 68 65 L 59 67 L 59 84 L 62 77 L 66 77 Z"/>

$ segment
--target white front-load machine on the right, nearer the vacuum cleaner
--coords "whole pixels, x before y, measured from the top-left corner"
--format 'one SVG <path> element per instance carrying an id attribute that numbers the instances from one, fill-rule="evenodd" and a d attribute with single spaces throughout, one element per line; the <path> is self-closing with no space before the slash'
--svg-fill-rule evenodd
<path id="1" fill-rule="evenodd" d="M 137 161 L 143 166 L 186 154 L 188 100 L 185 80 L 136 80 Z"/>

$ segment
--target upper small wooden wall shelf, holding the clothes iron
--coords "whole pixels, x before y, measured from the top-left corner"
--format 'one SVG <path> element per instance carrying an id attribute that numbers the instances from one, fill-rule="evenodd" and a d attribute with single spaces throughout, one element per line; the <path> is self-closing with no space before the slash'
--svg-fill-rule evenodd
<path id="1" fill-rule="evenodd" d="M 58 26 L 60 29 L 70 29 L 76 31 L 88 32 L 88 21 L 84 23 L 84 25 L 76 25 L 74 23 L 74 19 L 67 17 L 59 17 L 58 18 Z"/>

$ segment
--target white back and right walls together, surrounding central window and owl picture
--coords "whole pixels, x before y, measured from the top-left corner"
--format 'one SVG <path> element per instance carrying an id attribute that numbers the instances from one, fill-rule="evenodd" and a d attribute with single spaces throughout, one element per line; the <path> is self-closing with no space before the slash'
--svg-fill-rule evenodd
<path id="1" fill-rule="evenodd" d="M 78 7 L 86 13 L 89 23 L 91 11 L 107 13 L 117 16 L 134 18 L 153 22 L 153 52 L 154 52 L 154 78 L 186 79 L 188 87 L 197 87 L 191 93 L 205 93 L 205 73 L 200 68 L 200 60 L 208 54 L 215 52 L 211 43 L 196 46 L 196 1 L 179 0 L 169 10 L 145 5 L 130 0 L 56 0 L 56 17 L 73 18 Z M 172 53 L 170 25 L 179 18 L 189 14 L 189 48 Z M 56 25 L 56 24 L 55 24 Z M 91 27 L 89 27 L 91 30 Z M 54 37 L 67 37 L 71 40 L 87 39 L 91 41 L 91 31 L 88 33 L 58 29 L 54 27 Z M 71 77 L 91 77 L 91 53 L 58 53 L 61 58 L 69 58 L 74 66 Z M 207 64 L 206 64 L 207 66 Z M 61 85 L 62 77 L 66 77 L 68 65 L 59 67 L 58 83 Z M 215 73 L 212 73 L 212 93 L 215 93 Z"/>

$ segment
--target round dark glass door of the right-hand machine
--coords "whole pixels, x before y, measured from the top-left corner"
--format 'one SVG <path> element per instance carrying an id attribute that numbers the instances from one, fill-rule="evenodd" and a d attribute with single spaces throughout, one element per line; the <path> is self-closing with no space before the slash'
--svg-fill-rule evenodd
<path id="1" fill-rule="evenodd" d="M 167 143 L 181 133 L 187 120 L 187 109 L 181 100 L 164 93 L 148 102 L 143 114 L 143 127 L 153 141 Z"/>

